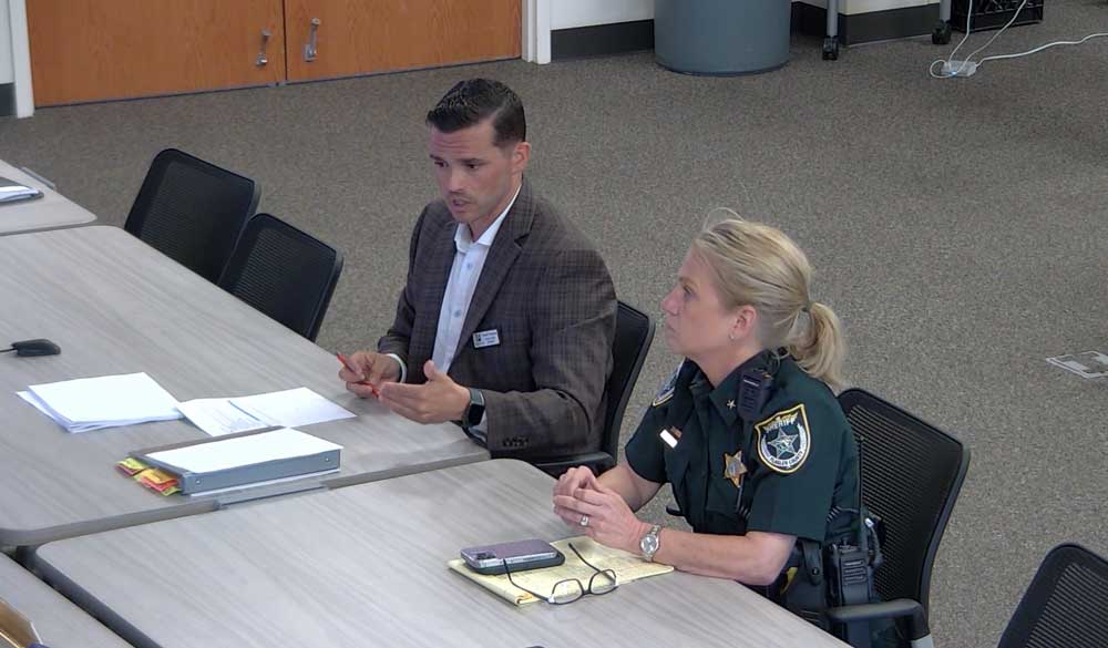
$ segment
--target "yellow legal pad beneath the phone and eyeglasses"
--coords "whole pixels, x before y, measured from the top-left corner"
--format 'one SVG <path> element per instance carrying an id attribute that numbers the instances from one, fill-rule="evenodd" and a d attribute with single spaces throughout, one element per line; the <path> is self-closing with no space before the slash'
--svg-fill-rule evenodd
<path id="1" fill-rule="evenodd" d="M 544 567 L 542 569 L 529 569 L 526 572 L 512 572 L 512 580 L 515 580 L 517 584 L 526 587 L 527 589 L 538 593 L 553 590 L 555 583 L 558 580 L 565 580 L 566 578 L 576 578 L 577 580 L 581 580 L 582 585 L 587 586 L 588 579 L 592 578 L 593 574 L 596 572 L 588 565 L 581 562 L 581 558 L 578 558 L 577 555 L 573 553 L 573 549 L 570 548 L 570 543 L 573 543 L 573 546 L 581 552 L 581 555 L 593 565 L 596 565 L 598 569 L 612 569 L 615 572 L 616 583 L 620 587 L 633 580 L 638 580 L 639 578 L 668 574 L 674 570 L 674 568 L 669 565 L 647 563 L 640 556 L 636 556 L 635 554 L 628 554 L 627 552 L 620 549 L 613 549 L 599 543 L 593 542 L 587 536 L 579 536 L 551 543 L 565 555 L 565 563 L 558 565 L 557 567 Z M 529 603 L 542 600 L 541 598 L 536 598 L 512 585 L 507 580 L 507 576 L 504 574 L 495 576 L 478 574 L 476 572 L 470 569 L 469 565 L 465 564 L 465 560 L 461 558 L 449 560 L 447 565 L 454 572 L 458 572 L 462 576 L 465 576 L 470 580 L 481 585 L 489 592 L 492 592 L 496 596 L 514 605 L 527 605 Z"/>

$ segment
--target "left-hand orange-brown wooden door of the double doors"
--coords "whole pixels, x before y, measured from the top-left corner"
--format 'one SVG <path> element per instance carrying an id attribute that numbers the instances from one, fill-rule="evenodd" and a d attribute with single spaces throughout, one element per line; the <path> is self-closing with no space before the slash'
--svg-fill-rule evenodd
<path id="1" fill-rule="evenodd" d="M 27 13 L 39 106 L 285 80 L 281 0 L 29 0 Z"/>

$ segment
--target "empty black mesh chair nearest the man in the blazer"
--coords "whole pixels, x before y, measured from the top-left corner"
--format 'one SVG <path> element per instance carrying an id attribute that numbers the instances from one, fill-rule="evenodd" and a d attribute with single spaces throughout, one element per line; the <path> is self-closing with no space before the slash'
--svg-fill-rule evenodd
<path id="1" fill-rule="evenodd" d="M 219 287 L 315 340 L 342 272 L 342 254 L 269 214 L 246 225 Z"/>

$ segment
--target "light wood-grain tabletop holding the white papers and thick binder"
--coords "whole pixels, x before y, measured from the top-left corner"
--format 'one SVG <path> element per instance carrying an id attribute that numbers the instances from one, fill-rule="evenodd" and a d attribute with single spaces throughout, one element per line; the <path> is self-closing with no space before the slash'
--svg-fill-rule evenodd
<path id="1" fill-rule="evenodd" d="M 0 237 L 0 348 L 49 338 L 59 356 L 0 354 L 0 545 L 51 539 L 319 487 L 163 497 L 119 474 L 132 450 L 205 439 L 184 420 L 66 433 L 16 392 L 145 371 L 177 400 L 307 387 L 358 414 L 300 428 L 343 446 L 349 484 L 489 457 L 458 426 L 420 425 L 345 390 L 325 351 L 115 227 Z M 367 336 L 370 331 L 367 331 Z"/>

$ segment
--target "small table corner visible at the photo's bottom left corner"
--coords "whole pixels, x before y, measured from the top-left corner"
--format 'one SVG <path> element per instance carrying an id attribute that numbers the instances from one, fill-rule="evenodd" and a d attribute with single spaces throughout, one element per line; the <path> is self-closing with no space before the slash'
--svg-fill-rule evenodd
<path id="1" fill-rule="evenodd" d="M 0 554 L 0 599 L 34 625 L 50 648 L 129 648 L 130 644 Z"/>

